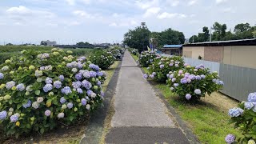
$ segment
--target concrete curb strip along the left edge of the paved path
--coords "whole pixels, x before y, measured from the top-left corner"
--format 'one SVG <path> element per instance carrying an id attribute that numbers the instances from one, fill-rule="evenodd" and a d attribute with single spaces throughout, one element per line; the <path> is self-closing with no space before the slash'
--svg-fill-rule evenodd
<path id="1" fill-rule="evenodd" d="M 110 79 L 108 86 L 106 87 L 106 93 L 104 96 L 103 106 L 96 110 L 90 118 L 90 123 L 86 126 L 85 134 L 80 140 L 80 144 L 98 144 L 101 140 L 104 121 L 108 110 L 110 109 L 111 100 L 115 94 L 115 88 L 118 83 L 118 75 L 122 66 L 122 61 L 118 63 L 118 67 L 114 70 L 114 74 Z"/>

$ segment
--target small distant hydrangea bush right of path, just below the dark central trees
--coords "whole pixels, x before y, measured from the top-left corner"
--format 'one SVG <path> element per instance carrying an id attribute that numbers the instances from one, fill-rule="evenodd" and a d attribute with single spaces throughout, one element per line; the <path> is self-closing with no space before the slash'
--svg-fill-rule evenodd
<path id="1" fill-rule="evenodd" d="M 138 56 L 138 64 L 143 67 L 150 66 L 157 54 L 154 51 L 142 51 Z"/>

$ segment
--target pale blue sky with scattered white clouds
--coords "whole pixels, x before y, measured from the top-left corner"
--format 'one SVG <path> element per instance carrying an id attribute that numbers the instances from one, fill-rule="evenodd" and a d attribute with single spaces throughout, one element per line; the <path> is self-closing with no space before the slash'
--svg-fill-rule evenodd
<path id="1" fill-rule="evenodd" d="M 203 26 L 256 24 L 255 0 L 1 0 L 0 45 L 122 42 L 129 29 L 146 22 L 150 31 L 167 28 L 186 38 Z"/>

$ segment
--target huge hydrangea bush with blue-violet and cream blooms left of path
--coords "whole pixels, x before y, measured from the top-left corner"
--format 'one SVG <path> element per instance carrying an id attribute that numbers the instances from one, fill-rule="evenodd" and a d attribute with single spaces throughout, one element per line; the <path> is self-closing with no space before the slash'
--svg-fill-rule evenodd
<path id="1" fill-rule="evenodd" d="M 0 127 L 6 135 L 43 134 L 102 104 L 105 72 L 71 54 L 23 50 L 0 66 Z"/>

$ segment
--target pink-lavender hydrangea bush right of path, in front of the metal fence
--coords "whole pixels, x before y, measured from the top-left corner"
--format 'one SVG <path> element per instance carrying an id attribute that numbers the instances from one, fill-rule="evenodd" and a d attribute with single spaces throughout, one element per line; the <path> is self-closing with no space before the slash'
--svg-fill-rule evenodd
<path id="1" fill-rule="evenodd" d="M 218 73 L 210 73 L 204 66 L 186 66 L 184 69 L 170 71 L 166 81 L 170 90 L 182 98 L 196 101 L 205 94 L 222 89 L 223 82 L 219 80 Z"/>

